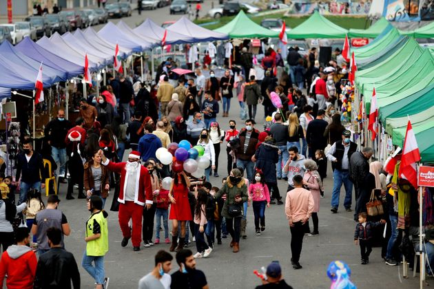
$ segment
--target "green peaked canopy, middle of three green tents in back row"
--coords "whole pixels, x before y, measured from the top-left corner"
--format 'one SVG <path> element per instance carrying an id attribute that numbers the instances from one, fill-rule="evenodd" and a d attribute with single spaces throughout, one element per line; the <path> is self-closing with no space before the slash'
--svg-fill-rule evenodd
<path id="1" fill-rule="evenodd" d="M 290 39 L 307 38 L 345 38 L 348 30 L 327 20 L 317 11 L 306 21 L 298 25 L 293 30 L 287 32 Z"/>

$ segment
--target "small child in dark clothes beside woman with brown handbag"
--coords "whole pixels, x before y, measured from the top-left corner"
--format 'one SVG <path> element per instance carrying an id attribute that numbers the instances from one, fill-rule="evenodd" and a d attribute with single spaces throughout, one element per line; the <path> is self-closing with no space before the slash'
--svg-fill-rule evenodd
<path id="1" fill-rule="evenodd" d="M 385 224 L 385 220 L 380 220 L 380 222 L 370 222 L 366 221 L 366 213 L 359 214 L 359 223 L 355 225 L 354 231 L 354 244 L 360 245 L 360 255 L 362 258 L 362 265 L 369 263 L 369 254 L 372 252 L 372 229 L 381 224 Z"/>

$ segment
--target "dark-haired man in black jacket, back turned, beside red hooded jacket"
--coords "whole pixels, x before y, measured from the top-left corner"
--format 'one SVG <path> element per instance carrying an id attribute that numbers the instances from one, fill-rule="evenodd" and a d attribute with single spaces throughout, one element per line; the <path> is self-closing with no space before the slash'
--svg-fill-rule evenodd
<path id="1" fill-rule="evenodd" d="M 59 228 L 48 228 L 48 244 L 50 250 L 39 256 L 34 289 L 59 288 L 70 289 L 71 281 L 74 289 L 80 288 L 80 272 L 74 255 L 61 247 L 62 231 Z"/>

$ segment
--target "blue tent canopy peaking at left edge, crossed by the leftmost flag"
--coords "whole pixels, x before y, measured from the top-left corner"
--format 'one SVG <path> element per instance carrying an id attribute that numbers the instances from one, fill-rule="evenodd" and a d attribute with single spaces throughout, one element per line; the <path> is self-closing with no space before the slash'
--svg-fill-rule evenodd
<path id="1" fill-rule="evenodd" d="M 19 75 L 25 78 L 33 78 L 33 82 L 36 81 L 39 67 L 41 66 L 39 61 L 35 61 L 15 50 L 9 41 L 3 41 L 0 45 L 0 61 L 4 65 L 17 71 Z M 63 71 L 54 69 L 45 64 L 42 65 L 42 71 L 43 85 L 45 87 L 50 87 L 59 81 L 66 81 L 66 74 Z"/>

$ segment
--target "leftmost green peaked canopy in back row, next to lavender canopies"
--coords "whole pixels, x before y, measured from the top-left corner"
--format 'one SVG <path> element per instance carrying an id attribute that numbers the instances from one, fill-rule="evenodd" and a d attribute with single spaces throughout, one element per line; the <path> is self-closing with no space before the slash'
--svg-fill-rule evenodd
<path id="1" fill-rule="evenodd" d="M 231 22 L 214 31 L 228 34 L 230 38 L 265 38 L 279 36 L 279 32 L 263 28 L 261 25 L 251 21 L 242 10 Z"/>

